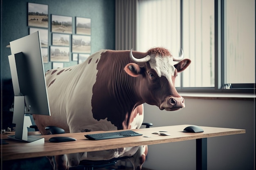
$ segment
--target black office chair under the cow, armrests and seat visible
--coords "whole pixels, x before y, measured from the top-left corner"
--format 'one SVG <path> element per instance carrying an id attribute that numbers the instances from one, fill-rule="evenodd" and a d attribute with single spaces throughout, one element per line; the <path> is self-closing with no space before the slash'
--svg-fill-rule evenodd
<path id="1" fill-rule="evenodd" d="M 150 126 L 153 126 L 152 123 L 142 123 L 142 125 L 145 125 L 146 128 L 150 128 Z M 62 128 L 58 128 L 56 126 L 47 126 L 45 127 L 45 130 L 49 130 L 52 135 L 54 134 L 62 134 L 65 133 L 65 131 Z M 91 161 L 91 160 L 82 160 L 79 163 L 79 166 L 77 167 L 71 167 L 70 170 L 94 170 L 94 168 L 106 168 L 110 166 L 114 166 L 117 161 L 124 161 L 125 159 L 128 159 L 130 157 L 119 157 L 119 158 L 112 158 L 110 160 L 99 160 L 99 161 Z M 113 169 L 111 169 L 113 170 Z"/>

